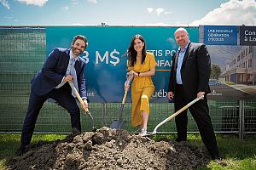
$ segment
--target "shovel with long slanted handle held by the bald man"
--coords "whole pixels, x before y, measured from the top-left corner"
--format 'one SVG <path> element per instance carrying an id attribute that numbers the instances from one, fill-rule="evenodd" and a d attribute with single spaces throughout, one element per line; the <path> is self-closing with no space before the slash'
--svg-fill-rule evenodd
<path id="1" fill-rule="evenodd" d="M 186 109 L 188 109 L 191 105 L 195 104 L 195 102 L 199 101 L 200 99 L 203 99 L 204 96 L 200 96 L 194 100 L 192 100 L 188 105 L 183 106 L 183 108 L 181 108 L 180 110 L 176 111 L 175 113 L 173 113 L 171 116 L 167 117 L 164 121 L 160 122 L 158 125 L 156 125 L 156 127 L 154 127 L 154 131 L 152 133 L 148 133 L 145 134 L 143 136 L 151 136 L 155 133 L 157 133 L 157 129 L 162 126 L 163 124 L 165 124 L 166 122 L 170 121 L 172 118 L 174 118 L 175 116 L 177 116 L 178 114 L 180 114 L 181 112 L 185 111 Z"/>

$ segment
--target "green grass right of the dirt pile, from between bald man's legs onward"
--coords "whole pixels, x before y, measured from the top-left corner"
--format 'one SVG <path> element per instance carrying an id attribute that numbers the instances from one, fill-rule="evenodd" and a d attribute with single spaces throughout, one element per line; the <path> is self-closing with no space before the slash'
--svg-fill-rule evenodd
<path id="1" fill-rule="evenodd" d="M 191 138 L 190 142 L 199 147 L 203 144 L 198 141 L 198 136 Z M 217 135 L 220 155 L 227 163 L 226 167 L 210 162 L 211 169 L 256 169 L 256 136 L 247 136 L 245 140 L 239 140 L 235 135 Z"/>

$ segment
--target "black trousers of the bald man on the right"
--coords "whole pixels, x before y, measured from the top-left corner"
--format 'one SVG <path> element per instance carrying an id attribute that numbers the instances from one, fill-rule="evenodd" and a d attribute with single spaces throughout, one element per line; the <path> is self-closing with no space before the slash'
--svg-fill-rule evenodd
<path id="1" fill-rule="evenodd" d="M 184 105 L 187 105 L 190 101 L 185 99 L 183 85 L 176 85 L 175 90 L 175 111 L 181 109 Z M 175 117 L 176 127 L 177 127 L 177 139 L 186 140 L 187 139 L 187 125 L 188 125 L 188 115 L 187 111 L 183 111 Z M 211 117 L 209 115 L 209 108 L 207 104 L 207 96 L 196 102 L 194 105 L 189 107 L 189 111 L 199 129 L 201 134 L 201 139 L 206 145 L 207 150 L 210 152 L 211 156 L 218 157 L 218 147 L 215 138 L 214 130 L 212 127 Z"/>

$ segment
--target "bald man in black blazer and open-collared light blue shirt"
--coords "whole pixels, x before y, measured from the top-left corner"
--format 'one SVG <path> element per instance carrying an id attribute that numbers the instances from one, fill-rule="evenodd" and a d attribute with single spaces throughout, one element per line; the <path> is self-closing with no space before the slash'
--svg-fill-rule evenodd
<path id="1" fill-rule="evenodd" d="M 168 98 L 174 99 L 175 111 L 178 111 L 196 97 L 205 96 L 204 99 L 190 106 L 189 111 L 195 119 L 201 139 L 212 159 L 217 160 L 218 146 L 207 105 L 207 94 L 210 93 L 208 85 L 211 74 L 210 55 L 204 44 L 189 41 L 189 34 L 184 28 L 178 28 L 174 37 L 179 48 L 172 59 Z M 176 116 L 175 122 L 176 141 L 187 140 L 187 110 Z"/>

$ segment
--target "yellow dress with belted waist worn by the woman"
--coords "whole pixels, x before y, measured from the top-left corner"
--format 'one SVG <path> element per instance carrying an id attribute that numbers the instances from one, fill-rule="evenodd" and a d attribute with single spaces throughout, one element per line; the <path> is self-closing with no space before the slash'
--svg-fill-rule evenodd
<path id="1" fill-rule="evenodd" d="M 129 71 L 147 72 L 156 65 L 154 54 L 148 53 L 143 65 L 140 62 L 132 67 L 128 67 Z M 134 77 L 131 83 L 131 126 L 137 127 L 142 125 L 142 112 L 145 111 L 149 116 L 149 99 L 154 93 L 154 84 L 151 77 Z"/>

